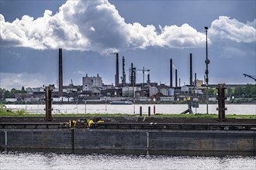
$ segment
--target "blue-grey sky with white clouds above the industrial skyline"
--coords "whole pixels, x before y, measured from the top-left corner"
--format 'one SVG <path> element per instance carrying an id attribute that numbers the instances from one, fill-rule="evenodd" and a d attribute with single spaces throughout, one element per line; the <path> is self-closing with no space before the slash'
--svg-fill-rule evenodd
<path id="1" fill-rule="evenodd" d="M 189 84 L 190 53 L 193 75 L 203 80 L 205 26 L 209 84 L 254 83 L 243 73 L 256 75 L 255 13 L 254 0 L 0 0 L 0 88 L 57 85 L 59 48 L 64 85 L 81 85 L 86 74 L 114 83 L 116 52 L 119 76 L 126 59 L 126 82 L 133 63 L 150 70 L 151 82 L 169 85 L 172 59 L 181 85 Z"/>

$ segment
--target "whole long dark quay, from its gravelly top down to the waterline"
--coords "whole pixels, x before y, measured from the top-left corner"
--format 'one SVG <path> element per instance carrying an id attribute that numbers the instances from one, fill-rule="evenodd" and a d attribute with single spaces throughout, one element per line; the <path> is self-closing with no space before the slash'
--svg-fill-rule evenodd
<path id="1" fill-rule="evenodd" d="M 0 117 L 0 148 L 256 152 L 255 119 L 102 117 L 90 127 L 68 123 L 90 118 Z"/>

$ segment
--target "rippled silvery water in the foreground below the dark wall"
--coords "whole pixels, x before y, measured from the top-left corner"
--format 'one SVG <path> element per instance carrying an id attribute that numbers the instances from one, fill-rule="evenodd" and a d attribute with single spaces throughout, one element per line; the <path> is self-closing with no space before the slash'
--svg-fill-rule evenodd
<path id="1" fill-rule="evenodd" d="M 170 156 L 0 152 L 0 169 L 237 169 L 255 170 L 255 156 Z"/>

